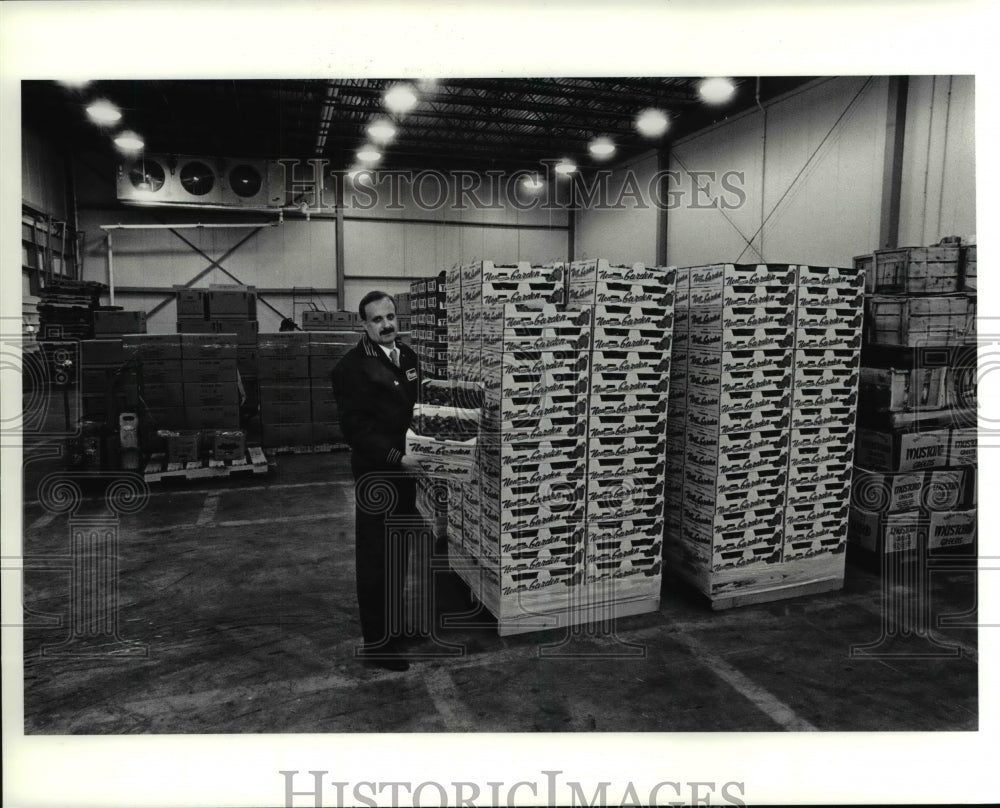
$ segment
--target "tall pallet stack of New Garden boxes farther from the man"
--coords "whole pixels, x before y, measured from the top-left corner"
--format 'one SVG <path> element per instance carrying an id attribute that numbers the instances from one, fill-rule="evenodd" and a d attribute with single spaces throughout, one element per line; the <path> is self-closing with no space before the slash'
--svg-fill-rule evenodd
<path id="1" fill-rule="evenodd" d="M 667 555 L 716 608 L 843 583 L 861 280 L 787 264 L 678 270 Z"/>

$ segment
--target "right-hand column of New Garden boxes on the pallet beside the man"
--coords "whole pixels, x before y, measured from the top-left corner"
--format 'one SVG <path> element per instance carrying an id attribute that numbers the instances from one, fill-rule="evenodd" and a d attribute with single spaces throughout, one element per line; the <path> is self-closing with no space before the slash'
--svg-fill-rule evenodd
<path id="1" fill-rule="evenodd" d="M 590 603 L 659 602 L 676 270 L 606 260 L 569 269 L 592 312 L 585 574 Z"/>

